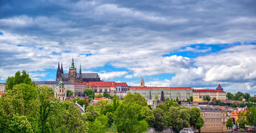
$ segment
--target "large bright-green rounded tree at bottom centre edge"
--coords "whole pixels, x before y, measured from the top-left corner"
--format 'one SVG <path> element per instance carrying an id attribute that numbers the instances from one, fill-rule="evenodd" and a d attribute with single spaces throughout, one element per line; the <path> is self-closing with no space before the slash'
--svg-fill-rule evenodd
<path id="1" fill-rule="evenodd" d="M 141 105 L 137 103 L 120 104 L 114 113 L 114 124 L 118 132 L 136 132 L 139 126 Z M 129 126 L 127 126 L 129 125 Z"/>

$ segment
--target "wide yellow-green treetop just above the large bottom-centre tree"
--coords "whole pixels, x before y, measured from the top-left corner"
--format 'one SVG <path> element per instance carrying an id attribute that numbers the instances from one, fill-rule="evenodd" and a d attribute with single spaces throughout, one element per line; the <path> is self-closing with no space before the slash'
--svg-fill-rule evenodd
<path id="1" fill-rule="evenodd" d="M 123 99 L 123 103 L 137 103 L 142 106 L 147 106 L 146 99 L 140 95 L 140 93 L 132 94 L 131 92 L 128 92 L 126 96 Z"/>

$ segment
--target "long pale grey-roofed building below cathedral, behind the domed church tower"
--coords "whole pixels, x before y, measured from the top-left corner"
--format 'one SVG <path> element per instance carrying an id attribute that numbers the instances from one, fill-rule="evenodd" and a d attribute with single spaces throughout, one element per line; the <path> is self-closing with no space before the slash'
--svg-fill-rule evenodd
<path id="1" fill-rule="evenodd" d="M 52 88 L 52 90 L 54 90 L 58 86 L 59 82 L 56 82 L 56 81 L 37 81 L 37 82 L 35 82 L 35 84 L 37 86 L 47 86 L 49 88 Z M 65 85 L 65 88 L 67 90 L 70 90 L 70 91 L 75 93 L 75 85 L 73 83 L 63 82 L 63 84 Z"/>

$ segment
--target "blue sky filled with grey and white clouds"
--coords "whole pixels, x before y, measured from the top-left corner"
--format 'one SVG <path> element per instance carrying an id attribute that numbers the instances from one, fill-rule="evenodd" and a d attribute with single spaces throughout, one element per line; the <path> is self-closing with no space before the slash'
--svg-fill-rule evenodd
<path id="1" fill-rule="evenodd" d="M 256 1 L 0 1 L 0 82 L 18 70 L 256 94 Z"/>

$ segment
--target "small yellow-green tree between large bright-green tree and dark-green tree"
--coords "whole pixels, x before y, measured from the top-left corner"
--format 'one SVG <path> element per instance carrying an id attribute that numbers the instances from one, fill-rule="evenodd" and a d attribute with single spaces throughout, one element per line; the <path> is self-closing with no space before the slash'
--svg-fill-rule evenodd
<path id="1" fill-rule="evenodd" d="M 148 125 L 153 126 L 153 123 L 155 121 L 154 113 L 150 108 L 148 107 L 142 107 L 140 111 L 141 118 L 144 119 Z"/>

